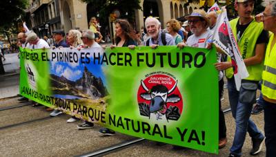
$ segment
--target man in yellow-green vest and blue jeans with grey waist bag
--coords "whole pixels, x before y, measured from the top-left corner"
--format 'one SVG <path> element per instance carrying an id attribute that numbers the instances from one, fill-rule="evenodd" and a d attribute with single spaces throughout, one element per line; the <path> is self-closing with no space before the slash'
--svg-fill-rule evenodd
<path id="1" fill-rule="evenodd" d="M 268 33 L 264 31 L 264 24 L 257 23 L 253 16 L 254 0 L 236 0 L 235 10 L 239 17 L 230 21 L 235 39 L 242 53 L 249 77 L 242 80 L 239 91 L 236 89 L 233 77 L 233 66 L 228 57 L 228 62 L 217 63 L 216 67 L 226 69 L 228 79 L 228 97 L 232 116 L 235 118 L 236 130 L 230 156 L 242 156 L 242 146 L 248 131 L 253 148 L 250 155 L 256 155 L 262 150 L 264 135 L 250 120 L 250 113 L 256 101 L 257 84 L 262 79 L 264 65 L 264 52 L 268 43 Z"/>

